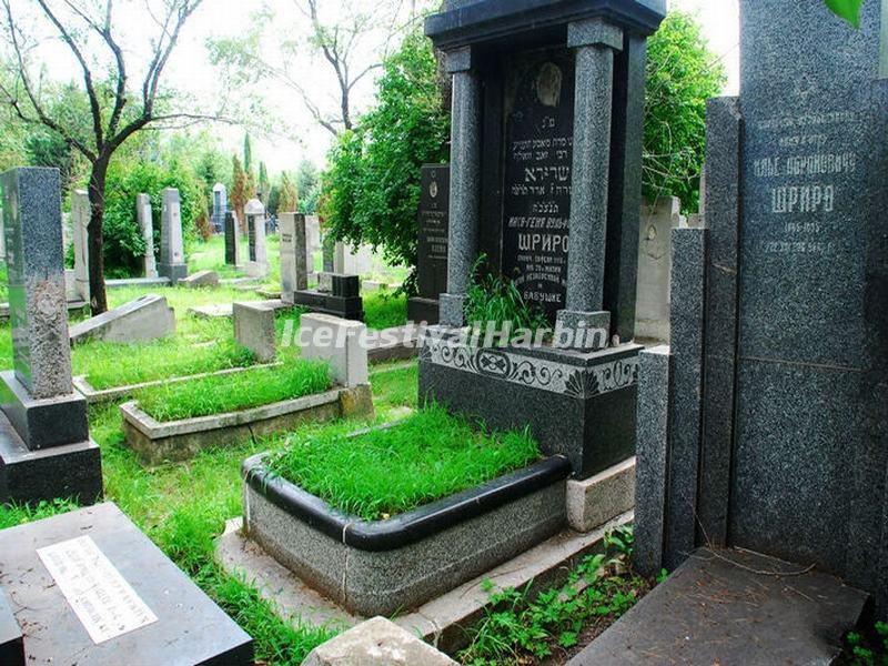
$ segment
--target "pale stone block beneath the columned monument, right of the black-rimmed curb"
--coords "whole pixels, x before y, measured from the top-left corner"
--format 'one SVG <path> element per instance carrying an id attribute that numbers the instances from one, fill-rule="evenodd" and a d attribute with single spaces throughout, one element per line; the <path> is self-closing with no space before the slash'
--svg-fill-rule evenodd
<path id="1" fill-rule="evenodd" d="M 567 524 L 592 532 L 635 505 L 635 457 L 589 478 L 567 482 Z"/>

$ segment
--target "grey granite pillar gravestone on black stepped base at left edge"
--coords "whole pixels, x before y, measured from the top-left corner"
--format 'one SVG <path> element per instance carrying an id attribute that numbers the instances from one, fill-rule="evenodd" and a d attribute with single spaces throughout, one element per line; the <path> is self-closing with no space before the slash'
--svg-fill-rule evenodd
<path id="1" fill-rule="evenodd" d="M 87 402 L 71 383 L 57 169 L 0 176 L 14 370 L 0 373 L 0 503 L 102 495 Z"/>

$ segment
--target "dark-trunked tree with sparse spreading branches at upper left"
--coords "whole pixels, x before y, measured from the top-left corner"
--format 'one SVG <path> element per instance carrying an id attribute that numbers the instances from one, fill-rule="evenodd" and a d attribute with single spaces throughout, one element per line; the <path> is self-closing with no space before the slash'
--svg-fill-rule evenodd
<path id="1" fill-rule="evenodd" d="M 8 56 L 13 63 L 11 81 L 0 81 L 0 103 L 21 123 L 43 127 L 73 145 L 89 162 L 90 292 L 93 314 L 108 309 L 104 290 L 103 221 L 105 184 L 111 160 L 133 134 L 164 121 L 199 119 L 191 112 L 172 110 L 171 95 L 162 88 L 163 73 L 188 20 L 202 0 L 148 0 L 145 30 L 147 67 L 138 90 L 131 89 L 132 62 L 128 54 L 144 50 L 119 41 L 114 0 L 101 7 L 82 0 L 31 0 L 22 10 L 16 0 L 0 0 Z M 14 9 L 13 9 L 14 7 Z M 154 34 L 151 28 L 157 27 Z M 51 32 L 67 49 L 82 77 L 88 112 L 53 107 L 40 82 L 39 49 Z M 51 87 L 50 87 L 51 88 Z M 83 129 L 82 122 L 89 127 Z"/>

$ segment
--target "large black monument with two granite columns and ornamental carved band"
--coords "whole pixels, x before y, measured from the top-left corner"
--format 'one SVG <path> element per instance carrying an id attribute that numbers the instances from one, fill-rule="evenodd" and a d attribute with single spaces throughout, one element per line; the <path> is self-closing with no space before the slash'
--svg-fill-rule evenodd
<path id="1" fill-rule="evenodd" d="M 524 427 L 585 478 L 635 450 L 646 39 L 663 0 L 450 0 L 426 33 L 453 75 L 447 291 L 424 400 Z M 460 341 L 478 256 L 552 344 Z"/>

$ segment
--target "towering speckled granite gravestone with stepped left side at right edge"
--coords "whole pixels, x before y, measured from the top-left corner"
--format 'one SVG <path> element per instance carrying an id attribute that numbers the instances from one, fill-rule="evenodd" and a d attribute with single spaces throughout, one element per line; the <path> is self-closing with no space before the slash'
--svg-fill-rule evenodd
<path id="1" fill-rule="evenodd" d="M 638 566 L 739 546 L 886 615 L 888 8 L 864 0 L 859 30 L 816 0 L 740 10 L 740 97 L 708 108 L 707 229 L 676 246 L 672 349 L 644 361 L 663 381 L 639 410 L 662 417 L 639 418 L 659 425 L 638 483 L 666 485 L 639 492 Z"/>

